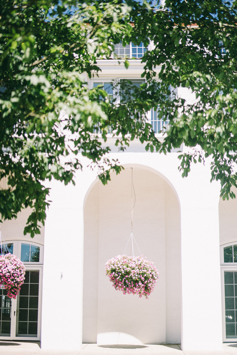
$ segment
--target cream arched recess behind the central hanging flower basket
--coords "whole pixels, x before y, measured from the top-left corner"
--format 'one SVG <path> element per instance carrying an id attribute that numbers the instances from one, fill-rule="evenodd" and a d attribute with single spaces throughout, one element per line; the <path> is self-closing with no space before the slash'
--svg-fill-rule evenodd
<path id="1" fill-rule="evenodd" d="M 134 236 L 143 255 L 155 263 L 160 279 L 146 300 L 116 291 L 105 275 L 104 264 L 123 253 L 130 235 L 127 166 L 119 175 L 112 174 L 106 186 L 98 181 L 85 203 L 83 343 L 181 342 L 179 203 L 171 186 L 146 167 L 136 165 L 133 180 Z"/>

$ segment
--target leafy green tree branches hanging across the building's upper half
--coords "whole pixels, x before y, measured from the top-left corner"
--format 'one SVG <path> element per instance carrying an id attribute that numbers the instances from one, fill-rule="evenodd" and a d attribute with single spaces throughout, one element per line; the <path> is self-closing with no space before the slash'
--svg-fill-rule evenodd
<path id="1" fill-rule="evenodd" d="M 183 176 L 190 163 L 212 157 L 211 179 L 220 180 L 223 198 L 237 187 L 237 1 L 166 0 L 0 0 L 0 214 L 16 217 L 31 207 L 24 233 L 39 233 L 52 178 L 74 183 L 81 169 L 77 153 L 100 169 L 103 183 L 118 162 L 106 160 L 109 147 L 94 135 L 99 122 L 106 142 L 113 127 L 115 144 L 146 142 L 146 149 L 169 152 L 182 143 Z M 101 88 L 89 89 L 100 58 L 114 45 L 145 45 L 146 83 L 121 86 L 120 104 Z M 129 60 L 123 60 L 126 67 Z M 116 86 L 116 84 L 114 83 Z M 170 95 L 170 86 L 190 88 L 192 105 Z M 118 89 L 118 88 L 117 88 Z M 132 91 L 131 91 L 132 90 Z M 132 92 L 132 95 L 131 95 Z M 160 105 L 171 128 L 160 142 L 139 117 Z M 36 134 L 35 134 L 36 133 Z M 70 157 L 70 158 L 69 158 Z"/>

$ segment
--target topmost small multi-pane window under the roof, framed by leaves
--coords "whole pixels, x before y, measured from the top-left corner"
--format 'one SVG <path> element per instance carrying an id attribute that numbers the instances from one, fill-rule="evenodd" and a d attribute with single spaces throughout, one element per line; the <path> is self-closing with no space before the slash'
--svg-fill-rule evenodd
<path id="1" fill-rule="evenodd" d="M 145 47 L 142 42 L 139 45 L 134 43 L 126 44 L 125 47 L 120 42 L 114 45 L 114 58 L 140 59 L 147 50 L 148 47 Z"/>

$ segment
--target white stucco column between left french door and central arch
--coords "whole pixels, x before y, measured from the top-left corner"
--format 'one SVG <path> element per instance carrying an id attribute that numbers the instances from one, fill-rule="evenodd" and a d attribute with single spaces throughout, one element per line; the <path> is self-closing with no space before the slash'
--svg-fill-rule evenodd
<path id="1" fill-rule="evenodd" d="M 77 188 L 50 184 L 42 293 L 42 349 L 78 350 L 82 343 L 83 200 Z"/>

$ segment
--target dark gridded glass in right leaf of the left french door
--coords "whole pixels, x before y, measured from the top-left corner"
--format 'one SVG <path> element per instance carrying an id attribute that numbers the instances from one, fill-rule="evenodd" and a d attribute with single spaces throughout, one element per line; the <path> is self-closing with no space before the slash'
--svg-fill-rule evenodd
<path id="1" fill-rule="evenodd" d="M 38 337 L 39 270 L 26 271 L 17 297 L 16 337 Z"/>

